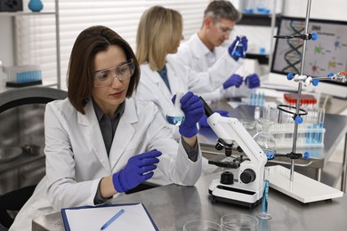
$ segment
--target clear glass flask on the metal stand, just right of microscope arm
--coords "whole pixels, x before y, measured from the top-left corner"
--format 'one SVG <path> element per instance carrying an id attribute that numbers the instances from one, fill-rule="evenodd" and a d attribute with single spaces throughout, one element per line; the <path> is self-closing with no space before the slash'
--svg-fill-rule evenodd
<path id="1" fill-rule="evenodd" d="M 256 133 L 253 137 L 255 142 L 262 148 L 268 160 L 275 157 L 276 154 L 276 140 L 270 134 L 269 129 L 273 124 L 272 121 L 261 118 L 259 120 L 260 132 Z"/>

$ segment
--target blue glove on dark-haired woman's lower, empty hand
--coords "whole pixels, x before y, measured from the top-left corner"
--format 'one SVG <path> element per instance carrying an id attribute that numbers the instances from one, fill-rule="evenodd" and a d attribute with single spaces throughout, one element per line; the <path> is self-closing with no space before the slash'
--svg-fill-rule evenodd
<path id="1" fill-rule="evenodd" d="M 129 158 L 125 168 L 113 174 L 113 187 L 118 193 L 123 193 L 150 179 L 154 174 L 153 170 L 157 169 L 155 163 L 159 163 L 157 156 L 160 155 L 161 152 L 154 149 Z"/>

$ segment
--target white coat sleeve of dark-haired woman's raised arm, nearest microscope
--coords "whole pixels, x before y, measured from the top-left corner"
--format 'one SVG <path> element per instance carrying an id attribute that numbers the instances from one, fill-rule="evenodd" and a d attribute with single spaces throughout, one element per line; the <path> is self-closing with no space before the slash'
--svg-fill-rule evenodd
<path id="1" fill-rule="evenodd" d="M 154 118 L 149 125 L 147 135 L 150 137 L 149 147 L 162 152 L 159 156 L 157 167 L 165 174 L 165 177 L 175 184 L 193 186 L 201 175 L 202 155 L 198 147 L 198 160 L 192 162 L 182 146 L 182 140 L 177 143 L 171 131 L 165 126 L 165 120 L 160 112 L 153 107 Z"/>

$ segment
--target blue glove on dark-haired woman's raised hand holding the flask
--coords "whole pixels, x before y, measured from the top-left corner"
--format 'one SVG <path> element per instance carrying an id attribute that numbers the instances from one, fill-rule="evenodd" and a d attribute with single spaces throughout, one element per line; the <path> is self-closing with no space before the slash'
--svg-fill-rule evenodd
<path id="1" fill-rule="evenodd" d="M 173 96 L 173 103 L 176 100 L 176 95 Z M 181 108 L 184 112 L 184 121 L 179 127 L 180 134 L 190 138 L 198 133 L 197 123 L 205 114 L 204 104 L 193 92 L 187 92 L 182 96 Z"/>

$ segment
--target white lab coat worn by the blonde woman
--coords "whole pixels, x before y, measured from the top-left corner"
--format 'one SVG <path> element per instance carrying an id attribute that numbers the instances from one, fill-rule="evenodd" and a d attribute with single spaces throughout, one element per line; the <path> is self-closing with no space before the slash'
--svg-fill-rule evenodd
<path id="1" fill-rule="evenodd" d="M 206 92 L 214 92 L 240 66 L 240 63 L 233 60 L 228 52 L 222 53 L 221 57 L 205 72 L 197 72 L 176 61 L 173 55 L 167 55 L 167 78 L 171 92 L 157 71 L 150 69 L 149 64 L 141 64 L 141 78 L 136 97 L 154 102 L 165 117 L 166 112 L 173 107 L 171 99 L 175 93 L 190 91 L 204 95 Z M 178 139 L 181 135 L 177 127 L 169 126 L 175 139 Z"/>

